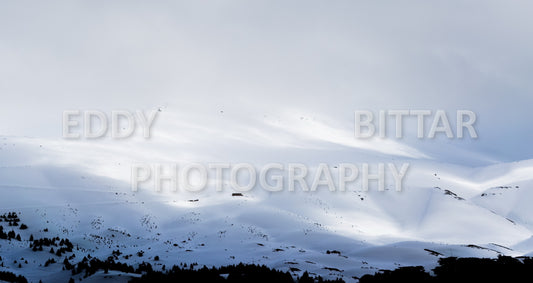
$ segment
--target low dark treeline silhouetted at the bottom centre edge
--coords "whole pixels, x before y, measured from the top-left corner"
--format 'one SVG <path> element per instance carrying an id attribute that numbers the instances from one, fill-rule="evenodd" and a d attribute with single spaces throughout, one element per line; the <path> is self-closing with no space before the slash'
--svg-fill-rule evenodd
<path id="1" fill-rule="evenodd" d="M 225 276 L 222 277 L 221 274 Z M 312 277 L 305 272 L 302 277 L 293 279 L 289 272 L 282 272 L 264 265 L 243 264 L 208 268 L 204 266 L 194 269 L 192 266 L 173 266 L 167 271 L 150 271 L 140 278 L 133 278 L 130 283 L 141 282 L 221 282 L 221 283 L 314 283 L 314 282 L 344 282 L 341 279 L 324 280 L 322 277 Z"/>

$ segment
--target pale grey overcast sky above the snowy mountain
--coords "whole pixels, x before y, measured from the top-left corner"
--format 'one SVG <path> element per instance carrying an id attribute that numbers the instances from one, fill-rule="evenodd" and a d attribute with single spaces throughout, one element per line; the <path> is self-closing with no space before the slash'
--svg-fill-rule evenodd
<path id="1" fill-rule="evenodd" d="M 65 142 L 64 110 L 161 108 L 154 138 L 137 143 L 146 155 L 530 159 L 532 11 L 528 1 L 0 1 L 0 135 Z M 361 109 L 470 109 L 479 139 L 360 143 Z"/>

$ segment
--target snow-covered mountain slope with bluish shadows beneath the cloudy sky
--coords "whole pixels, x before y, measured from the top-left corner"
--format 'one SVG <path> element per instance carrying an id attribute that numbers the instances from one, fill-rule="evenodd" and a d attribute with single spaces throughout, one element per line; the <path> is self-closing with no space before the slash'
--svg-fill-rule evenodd
<path id="1" fill-rule="evenodd" d="M 49 162 L 48 146 L 4 137 L 0 150 L 1 212 L 17 212 L 29 227 L 15 228 L 21 242 L 0 241 L 1 269 L 31 281 L 70 273 L 42 266 L 55 256 L 32 252 L 30 235 L 68 238 L 78 258 L 118 249 L 129 264 L 159 256 L 156 269 L 245 262 L 346 281 L 398 266 L 431 268 L 439 257 L 533 254 L 532 160 L 473 168 L 409 159 L 401 192 L 389 182 L 385 191 L 355 183 L 345 192 L 254 188 L 234 196 L 228 188 L 133 192 L 123 180 Z M 21 258 L 28 263 L 18 267 Z"/>

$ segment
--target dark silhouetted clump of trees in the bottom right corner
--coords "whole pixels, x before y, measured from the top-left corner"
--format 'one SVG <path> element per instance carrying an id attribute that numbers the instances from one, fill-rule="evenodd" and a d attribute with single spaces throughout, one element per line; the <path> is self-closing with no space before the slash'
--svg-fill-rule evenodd
<path id="1" fill-rule="evenodd" d="M 359 282 L 533 282 L 533 259 L 509 256 L 499 256 L 497 259 L 441 258 L 433 273 L 426 272 L 422 266 L 400 267 L 365 275 Z"/>

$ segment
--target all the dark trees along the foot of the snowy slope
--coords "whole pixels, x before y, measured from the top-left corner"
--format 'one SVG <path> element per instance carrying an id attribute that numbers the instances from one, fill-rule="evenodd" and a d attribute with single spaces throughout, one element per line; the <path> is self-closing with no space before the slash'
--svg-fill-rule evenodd
<path id="1" fill-rule="evenodd" d="M 15 212 L 0 215 L 0 222 L 7 222 L 9 226 L 19 227 L 18 229 L 27 229 L 24 224 L 19 224 L 20 219 Z M 0 225 L 0 239 L 12 239 L 22 241 L 19 234 L 14 230 L 8 233 L 3 231 Z M 106 260 L 92 258 L 90 255 L 84 257 L 78 263 L 70 263 L 69 260 L 75 258 L 72 253 L 74 245 L 69 239 L 55 238 L 40 238 L 34 239 L 30 236 L 29 246 L 35 252 L 44 251 L 43 247 L 55 256 L 62 256 L 65 254 L 63 260 L 63 270 L 70 271 L 72 276 L 88 278 L 98 271 L 108 273 L 110 270 L 120 271 L 124 273 L 141 274 L 139 278 L 133 278 L 130 282 L 229 282 L 229 283 L 244 283 L 244 282 L 276 282 L 276 283 L 311 283 L 311 282 L 344 282 L 342 279 L 324 280 L 322 277 L 314 277 L 309 273 L 304 272 L 301 277 L 296 280 L 289 272 L 282 272 L 276 269 L 266 267 L 264 265 L 243 264 L 229 265 L 222 267 L 196 268 L 197 263 L 181 264 L 166 268 L 162 266 L 162 271 L 155 271 L 152 265 L 147 262 L 142 262 L 137 267 L 128 265 L 126 263 L 116 262 L 122 254 L 119 250 L 112 251 L 111 256 Z M 55 248 L 55 249 L 54 249 Z M 427 250 L 433 255 L 440 256 L 441 254 L 435 251 Z M 142 251 L 141 251 L 142 252 Z M 67 253 L 72 253 L 70 256 Z M 337 250 L 328 250 L 327 254 L 341 255 Z M 127 257 L 125 257 L 127 259 Z M 21 260 L 23 260 L 21 258 Z M 154 257 L 154 261 L 159 261 L 159 256 Z M 60 260 L 59 260 L 60 261 Z M 14 263 L 17 263 L 15 261 Z M 25 261 L 27 264 L 28 262 Z M 48 259 L 44 263 L 44 267 L 56 264 L 54 258 Z M 0 257 L 0 267 L 4 267 L 2 257 Z M 21 264 L 19 264 L 21 268 Z M 335 269 L 335 268 L 326 268 Z M 298 269 L 299 270 L 299 269 Z M 337 270 L 337 269 L 335 269 Z M 224 275 L 224 276 L 222 276 Z M 22 275 L 17 275 L 8 271 L 0 271 L 0 281 L 6 282 L 27 282 Z M 76 282 L 74 278 L 70 278 L 69 282 Z M 79 278 L 82 281 L 82 278 Z M 381 270 L 373 275 L 364 275 L 360 278 L 361 283 L 381 283 L 381 282 L 533 282 L 533 258 L 531 257 L 508 257 L 499 256 L 497 259 L 490 258 L 440 258 L 439 265 L 433 269 L 433 274 L 426 272 L 421 266 L 400 267 L 395 270 Z"/>

